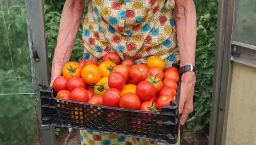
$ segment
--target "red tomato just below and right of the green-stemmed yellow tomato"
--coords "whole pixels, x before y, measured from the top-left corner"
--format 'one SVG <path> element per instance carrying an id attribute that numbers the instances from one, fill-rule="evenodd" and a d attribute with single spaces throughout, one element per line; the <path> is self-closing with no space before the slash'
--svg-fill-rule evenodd
<path id="1" fill-rule="evenodd" d="M 120 90 L 111 88 L 103 94 L 103 103 L 105 106 L 118 107 L 120 98 Z"/>

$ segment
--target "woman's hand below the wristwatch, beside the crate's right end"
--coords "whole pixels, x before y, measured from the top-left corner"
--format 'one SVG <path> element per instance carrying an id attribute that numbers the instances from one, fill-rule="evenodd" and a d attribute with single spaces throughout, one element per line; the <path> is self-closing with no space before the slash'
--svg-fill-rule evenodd
<path id="1" fill-rule="evenodd" d="M 195 72 L 185 72 L 182 74 L 179 99 L 180 125 L 184 125 L 188 115 L 193 111 L 195 83 Z"/>

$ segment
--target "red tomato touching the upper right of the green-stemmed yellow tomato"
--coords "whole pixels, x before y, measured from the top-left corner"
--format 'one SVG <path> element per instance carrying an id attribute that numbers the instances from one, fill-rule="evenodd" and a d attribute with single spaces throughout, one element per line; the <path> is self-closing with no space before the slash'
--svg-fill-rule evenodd
<path id="1" fill-rule="evenodd" d="M 125 87 L 125 77 L 120 72 L 113 72 L 108 76 L 109 88 L 122 90 Z"/>

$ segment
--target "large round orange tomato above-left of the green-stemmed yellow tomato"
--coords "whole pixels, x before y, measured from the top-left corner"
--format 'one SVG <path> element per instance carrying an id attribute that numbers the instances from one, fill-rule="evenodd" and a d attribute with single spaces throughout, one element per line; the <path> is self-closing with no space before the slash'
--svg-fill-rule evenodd
<path id="1" fill-rule="evenodd" d="M 87 65 L 82 69 L 82 78 L 87 84 L 93 85 L 102 78 L 102 73 L 96 65 Z"/>

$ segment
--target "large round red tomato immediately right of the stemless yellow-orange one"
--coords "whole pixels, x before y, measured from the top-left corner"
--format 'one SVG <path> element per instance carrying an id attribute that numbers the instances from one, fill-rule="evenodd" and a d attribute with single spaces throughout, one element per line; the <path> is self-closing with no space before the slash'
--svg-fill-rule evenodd
<path id="1" fill-rule="evenodd" d="M 142 101 L 149 101 L 154 98 L 156 91 L 151 82 L 144 80 L 138 83 L 136 93 Z"/>

